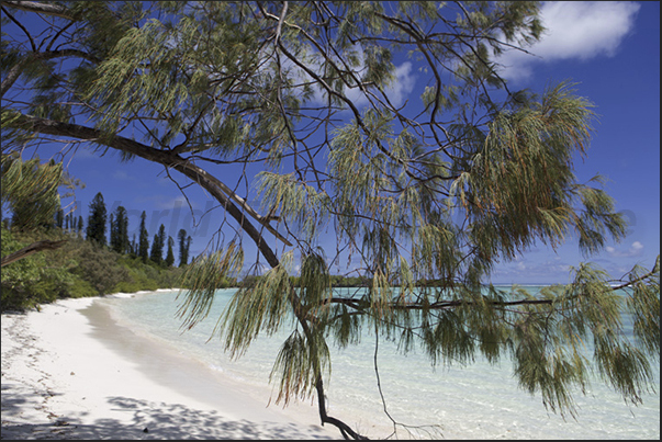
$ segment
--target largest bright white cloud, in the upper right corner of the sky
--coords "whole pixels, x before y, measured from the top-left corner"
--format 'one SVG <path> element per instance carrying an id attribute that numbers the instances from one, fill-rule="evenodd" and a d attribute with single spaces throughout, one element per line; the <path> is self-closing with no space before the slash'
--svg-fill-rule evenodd
<path id="1" fill-rule="evenodd" d="M 613 57 L 635 25 L 640 5 L 627 1 L 549 1 L 540 9 L 543 26 L 541 39 L 529 50 L 535 56 L 509 50 L 497 58 L 502 75 L 525 80 L 536 63 Z"/>

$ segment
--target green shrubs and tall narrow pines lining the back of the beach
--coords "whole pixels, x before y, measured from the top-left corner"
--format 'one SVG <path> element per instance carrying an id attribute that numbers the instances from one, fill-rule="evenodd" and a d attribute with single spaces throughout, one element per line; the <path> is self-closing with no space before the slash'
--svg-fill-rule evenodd
<path id="1" fill-rule="evenodd" d="M 89 206 L 85 230 L 82 216 L 65 214 L 60 199 L 79 185 L 61 163 L 2 155 L 2 204 L 11 215 L 3 219 L 1 231 L 2 310 L 38 308 L 40 303 L 57 298 L 181 286 L 191 243 L 186 230 L 179 231 L 184 239 L 180 240 L 178 268 L 173 267 L 172 238 L 168 238 L 167 257 L 162 258 L 164 225 L 147 260 L 139 254 L 135 236 L 133 241 L 128 239 L 124 207 L 110 214 L 109 226 L 101 192 Z M 144 225 L 141 228 L 145 229 Z M 141 234 L 147 235 L 146 229 Z"/>

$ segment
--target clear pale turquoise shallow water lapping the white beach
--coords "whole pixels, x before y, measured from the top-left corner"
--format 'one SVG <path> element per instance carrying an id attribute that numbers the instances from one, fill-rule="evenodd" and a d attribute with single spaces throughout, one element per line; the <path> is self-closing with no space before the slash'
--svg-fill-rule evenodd
<path id="1" fill-rule="evenodd" d="M 209 338 L 235 291 L 217 291 L 207 320 L 186 332 L 180 330 L 180 320 L 176 318 L 177 293 L 139 294 L 100 303 L 111 309 L 120 325 L 222 372 L 250 388 L 267 405 L 272 393 L 269 373 L 289 331 L 258 338 L 244 356 L 231 361 L 221 343 Z M 367 335 L 358 345 L 343 351 L 332 349 L 332 378 L 326 386 L 328 411 L 371 438 L 385 438 L 393 426 L 384 415 L 377 387 L 374 343 L 374 337 Z M 478 360 L 467 366 L 434 370 L 420 352 L 404 356 L 395 344 L 381 339 L 378 361 L 389 413 L 399 422 L 423 426 L 409 428 L 411 433 L 399 428 L 399 438 L 660 439 L 659 366 L 657 393 L 642 395 L 643 405 L 628 406 L 619 395 L 595 381 L 586 396 L 576 395 L 577 419 L 564 420 L 548 412 L 539 396 L 530 396 L 517 387 L 508 360 L 496 366 Z M 437 427 L 426 427 L 430 424 Z"/>

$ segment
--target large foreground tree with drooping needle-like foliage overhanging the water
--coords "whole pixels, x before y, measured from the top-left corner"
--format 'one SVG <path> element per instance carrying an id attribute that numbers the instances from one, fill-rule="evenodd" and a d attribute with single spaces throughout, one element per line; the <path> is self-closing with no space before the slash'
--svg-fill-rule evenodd
<path id="1" fill-rule="evenodd" d="M 3 14 L 49 16 L 52 32 L 23 23 L 40 44 L 5 43 L 3 134 L 16 149 L 74 140 L 153 161 L 214 197 L 236 235 L 188 265 L 183 325 L 244 267 L 247 236 L 271 269 L 240 287 L 218 337 L 239 356 L 259 333 L 291 327 L 272 372 L 277 403 L 315 395 L 322 423 L 346 438 L 361 434 L 327 413 L 327 350 L 366 327 L 437 364 L 510 359 L 520 385 L 562 413 L 574 412 L 572 387 L 585 386 L 591 341 L 605 382 L 636 403 L 660 354 L 659 263 L 616 279 L 580 263 L 569 284 L 537 297 L 489 284 L 495 262 L 535 243 L 575 234 L 588 257 L 626 231 L 599 180 L 573 173 L 593 104 L 572 83 L 538 95 L 500 77 L 495 56 L 541 35 L 538 8 L 7 1 Z M 429 80 L 419 99 L 391 93 L 397 57 Z M 60 59 L 70 63 L 49 63 Z M 243 173 L 224 182 L 224 167 Z M 257 208 L 239 196 L 253 184 Z M 335 250 L 316 247 L 326 230 Z M 339 295 L 329 263 L 347 250 L 370 283 Z M 636 318 L 635 341 L 622 314 Z"/>

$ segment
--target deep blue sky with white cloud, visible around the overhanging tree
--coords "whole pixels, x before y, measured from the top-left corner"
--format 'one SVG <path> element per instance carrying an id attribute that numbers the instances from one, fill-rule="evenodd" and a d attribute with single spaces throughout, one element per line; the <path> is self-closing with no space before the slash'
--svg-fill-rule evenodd
<path id="1" fill-rule="evenodd" d="M 572 80 L 576 93 L 596 105 L 591 147 L 585 159 L 576 158 L 575 173 L 580 182 L 597 173 L 606 177 L 605 190 L 630 225 L 621 242 L 608 242 L 591 257 L 581 256 L 572 237 L 556 250 L 537 246 L 513 262 L 498 263 L 492 282 L 565 283 L 571 267 L 585 261 L 617 277 L 635 264 L 651 268 L 660 253 L 660 2 L 545 2 L 541 18 L 547 31 L 529 48 L 535 56 L 505 54 L 498 60 L 503 76 L 512 89 L 536 92 L 550 82 Z M 408 61 L 396 73 L 393 100 L 417 98 L 425 87 L 423 76 Z M 47 156 L 41 151 L 42 158 Z M 175 239 L 184 228 L 193 239 L 192 256 L 221 238 L 214 236 L 223 219 L 221 209 L 213 209 L 217 204 L 197 186 L 187 189 L 187 201 L 178 189 L 187 181 L 176 172 L 171 178 L 178 184 L 160 166 L 141 159 L 121 163 L 115 154 L 100 157 L 85 149 L 66 161 L 86 188 L 76 191 L 75 202 L 63 204 L 74 203 L 74 213 L 86 220 L 90 202 L 101 191 L 109 214 L 119 205 L 127 209 L 130 235 L 137 233 L 145 211 L 150 239 L 160 224 Z M 248 250 L 246 261 L 255 260 L 255 253 Z"/>

